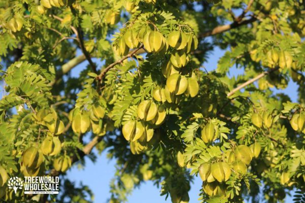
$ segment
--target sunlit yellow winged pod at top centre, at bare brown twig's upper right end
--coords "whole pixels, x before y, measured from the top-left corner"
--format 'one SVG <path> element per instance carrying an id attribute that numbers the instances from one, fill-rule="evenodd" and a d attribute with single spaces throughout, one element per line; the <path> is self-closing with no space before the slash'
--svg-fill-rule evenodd
<path id="1" fill-rule="evenodd" d="M 148 52 L 159 52 L 166 43 L 161 32 L 148 30 L 144 36 L 143 45 Z"/>

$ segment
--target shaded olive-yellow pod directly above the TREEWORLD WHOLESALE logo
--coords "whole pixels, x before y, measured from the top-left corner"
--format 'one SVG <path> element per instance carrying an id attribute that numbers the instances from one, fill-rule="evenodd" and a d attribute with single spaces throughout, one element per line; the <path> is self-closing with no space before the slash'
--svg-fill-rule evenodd
<path id="1" fill-rule="evenodd" d="M 29 147 L 22 155 L 23 165 L 28 168 L 38 168 L 43 161 L 43 155 L 36 147 Z"/>

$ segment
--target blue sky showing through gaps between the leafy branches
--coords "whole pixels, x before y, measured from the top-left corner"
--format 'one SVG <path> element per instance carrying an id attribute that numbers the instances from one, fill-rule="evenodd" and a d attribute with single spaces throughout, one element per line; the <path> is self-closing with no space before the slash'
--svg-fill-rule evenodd
<path id="1" fill-rule="evenodd" d="M 205 68 L 208 71 L 214 70 L 217 67 L 217 62 L 219 57 L 224 54 L 224 50 L 220 50 L 216 48 L 213 53 L 209 56 L 210 58 L 207 62 L 204 63 Z M 98 61 L 95 61 L 99 63 Z M 83 62 L 72 70 L 72 76 L 77 77 L 81 70 L 84 69 L 87 62 Z M 101 63 L 99 63 L 101 64 Z M 236 70 L 234 67 L 230 70 L 230 76 L 236 76 L 238 74 L 242 74 L 241 70 Z M 297 99 L 297 85 L 290 81 L 288 87 L 284 90 L 274 89 L 275 93 L 283 92 L 290 96 L 292 101 L 296 102 Z M 110 197 L 109 193 L 109 182 L 115 173 L 115 160 L 108 160 L 106 158 L 106 153 L 103 152 L 95 163 L 86 159 L 86 166 L 82 170 L 78 170 L 77 165 L 73 166 L 71 170 L 68 171 L 68 177 L 70 180 L 75 181 L 76 184 L 79 184 L 80 181 L 88 185 L 90 189 L 95 194 L 94 202 L 107 202 L 107 198 Z M 195 177 L 194 183 L 192 184 L 191 190 L 189 192 L 190 195 L 190 203 L 199 202 L 198 194 L 201 188 L 202 181 L 199 177 Z M 165 201 L 165 196 L 160 196 L 160 188 L 157 188 L 153 185 L 153 182 L 147 181 L 142 184 L 140 188 L 137 188 L 133 191 L 133 193 L 129 196 L 128 202 L 138 203 L 143 202 L 145 199 L 145 203 L 156 203 L 156 202 L 171 202 L 170 197 Z M 286 202 L 291 202 L 292 198 L 287 197 Z"/>

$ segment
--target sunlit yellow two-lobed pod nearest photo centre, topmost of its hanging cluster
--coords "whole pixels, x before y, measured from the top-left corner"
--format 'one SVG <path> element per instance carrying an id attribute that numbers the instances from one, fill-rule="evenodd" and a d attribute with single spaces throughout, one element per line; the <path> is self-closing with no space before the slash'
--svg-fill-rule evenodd
<path id="1" fill-rule="evenodd" d="M 138 105 L 138 116 L 144 121 L 153 120 L 158 113 L 157 105 L 150 100 L 143 100 Z"/>

